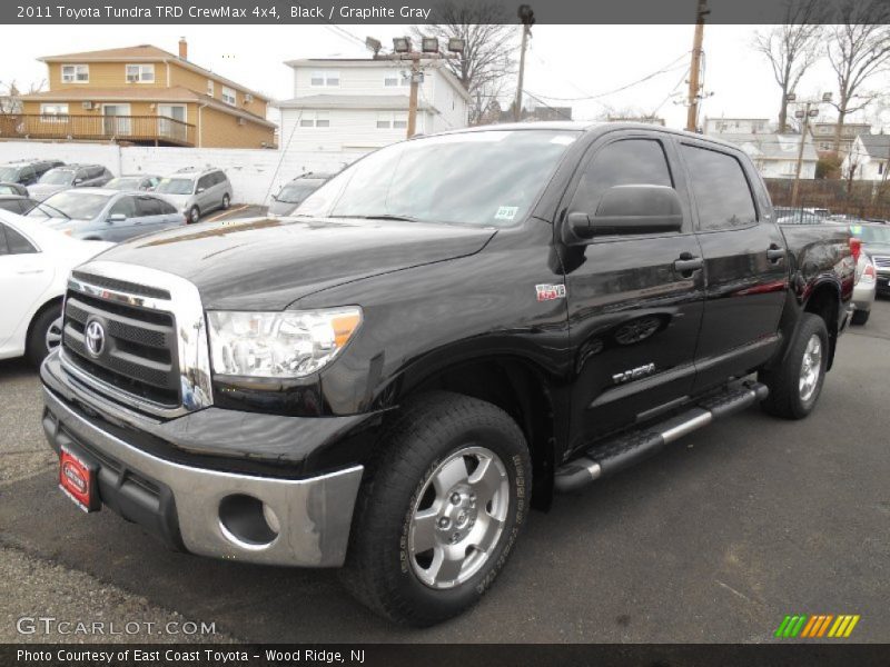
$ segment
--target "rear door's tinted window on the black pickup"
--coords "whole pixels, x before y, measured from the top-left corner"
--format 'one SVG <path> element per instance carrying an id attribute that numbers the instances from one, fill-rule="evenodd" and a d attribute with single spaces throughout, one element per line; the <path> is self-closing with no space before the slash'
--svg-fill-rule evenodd
<path id="1" fill-rule="evenodd" d="M 699 208 L 699 229 L 733 229 L 756 222 L 751 188 L 739 160 L 694 146 L 683 146 L 683 158 Z"/>

